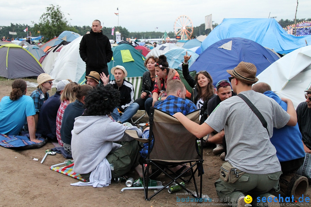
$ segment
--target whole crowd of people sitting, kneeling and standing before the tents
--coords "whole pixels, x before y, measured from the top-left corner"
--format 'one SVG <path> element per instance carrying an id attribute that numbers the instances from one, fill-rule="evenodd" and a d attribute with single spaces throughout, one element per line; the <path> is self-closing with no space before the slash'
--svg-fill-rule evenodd
<path id="1" fill-rule="evenodd" d="M 140 160 L 146 157 L 148 145 L 138 145 L 125 131 L 135 130 L 139 137 L 148 138 L 149 128 L 142 131 L 123 123 L 137 110 L 150 115 L 150 108 L 155 107 L 174 116 L 196 137 L 205 137 L 203 147 L 216 144 L 213 153 L 222 153 L 226 161 L 221 169 L 239 171 L 231 178 L 224 170 L 215 182 L 218 196 L 230 197 L 229 202 L 239 206 L 244 206 L 246 195 L 275 200 L 273 192 L 280 190 L 280 177 L 294 175 L 306 164 L 305 156 L 311 153 L 311 87 L 305 91 L 306 101 L 295 110 L 290 99 L 278 97 L 267 83 L 256 83 L 257 69 L 252 63 L 240 62 L 227 70 L 228 79 L 214 86 L 207 71 L 198 72 L 195 78 L 190 75 L 191 56 L 186 54 L 182 70 L 192 87 L 188 92 L 178 72 L 161 55 L 146 59 L 141 96 L 134 100 L 133 85 L 124 79 L 126 68 L 113 67 L 113 80 L 108 75 L 112 51 L 107 41 L 100 21 L 93 21 L 90 34 L 80 43 L 86 84 L 59 81 L 49 97 L 54 79 L 44 73 L 37 78 L 38 87 L 26 96 L 26 82 L 14 80 L 10 96 L 0 102 L 0 133 L 29 133 L 35 143 L 41 142 L 38 134 L 57 140 L 72 155 L 74 171 L 87 180 L 76 185 L 105 187 L 131 168 L 142 177 Z M 200 124 L 185 116 L 197 109 L 202 111 Z M 191 174 L 187 165 L 172 170 Z"/>

